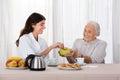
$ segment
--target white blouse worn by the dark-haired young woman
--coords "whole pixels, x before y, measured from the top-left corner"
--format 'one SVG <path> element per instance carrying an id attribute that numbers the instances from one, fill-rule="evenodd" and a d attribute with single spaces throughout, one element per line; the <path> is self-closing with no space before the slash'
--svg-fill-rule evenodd
<path id="1" fill-rule="evenodd" d="M 29 54 L 39 55 L 48 47 L 46 41 L 38 36 L 35 40 L 32 33 L 25 34 L 19 39 L 18 53 L 22 58 L 26 58 Z"/>

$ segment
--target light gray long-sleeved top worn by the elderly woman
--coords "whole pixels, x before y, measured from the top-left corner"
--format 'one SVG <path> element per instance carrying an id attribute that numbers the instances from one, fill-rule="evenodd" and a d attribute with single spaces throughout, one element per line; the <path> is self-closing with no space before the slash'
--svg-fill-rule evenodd
<path id="1" fill-rule="evenodd" d="M 91 42 L 85 42 L 83 39 L 75 40 L 73 44 L 73 50 L 77 50 L 78 53 L 90 56 L 92 63 L 103 63 L 106 56 L 106 42 L 95 39 Z"/>

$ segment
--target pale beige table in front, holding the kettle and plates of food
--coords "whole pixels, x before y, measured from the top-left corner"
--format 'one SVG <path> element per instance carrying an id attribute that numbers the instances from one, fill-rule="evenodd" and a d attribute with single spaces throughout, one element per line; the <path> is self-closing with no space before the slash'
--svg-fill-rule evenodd
<path id="1" fill-rule="evenodd" d="M 120 64 L 87 64 L 82 70 L 47 67 L 45 71 L 9 70 L 1 66 L 0 80 L 120 80 Z"/>

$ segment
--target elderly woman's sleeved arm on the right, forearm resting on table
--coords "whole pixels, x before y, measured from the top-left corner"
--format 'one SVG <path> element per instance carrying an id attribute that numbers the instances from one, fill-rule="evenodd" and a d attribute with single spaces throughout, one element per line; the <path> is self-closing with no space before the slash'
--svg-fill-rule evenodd
<path id="1" fill-rule="evenodd" d="M 83 57 L 85 63 L 103 63 L 106 55 L 106 42 L 101 41 L 96 48 L 93 50 L 91 56 L 83 55 L 82 53 L 77 53 L 75 57 Z M 80 56 L 79 56 L 80 55 Z"/>

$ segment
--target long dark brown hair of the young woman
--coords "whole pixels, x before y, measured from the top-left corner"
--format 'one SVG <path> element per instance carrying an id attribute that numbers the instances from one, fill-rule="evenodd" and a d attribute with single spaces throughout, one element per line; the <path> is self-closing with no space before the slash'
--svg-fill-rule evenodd
<path id="1" fill-rule="evenodd" d="M 23 36 L 24 34 L 28 34 L 30 32 L 33 32 L 33 28 L 32 25 L 36 25 L 38 22 L 42 21 L 42 20 L 46 20 L 45 17 L 39 13 L 32 13 L 26 23 L 25 23 L 25 27 L 22 29 L 19 38 L 16 40 L 16 45 L 19 46 L 19 39 L 21 36 Z"/>

